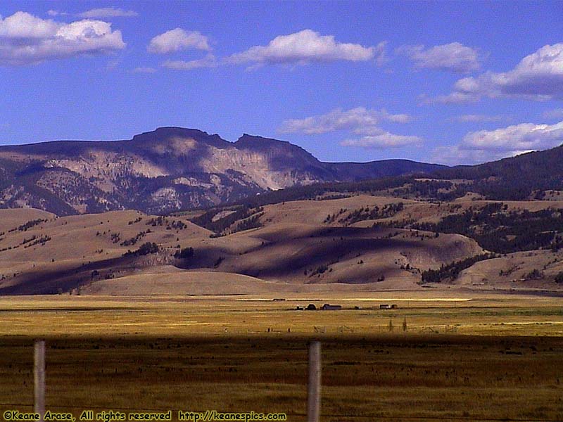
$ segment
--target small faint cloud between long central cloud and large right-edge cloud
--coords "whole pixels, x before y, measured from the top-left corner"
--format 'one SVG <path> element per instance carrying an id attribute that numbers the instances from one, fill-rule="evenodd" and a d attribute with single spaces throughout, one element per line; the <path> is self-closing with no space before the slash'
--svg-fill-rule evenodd
<path id="1" fill-rule="evenodd" d="M 455 73 L 469 73 L 479 70 L 479 53 L 459 42 L 434 46 L 402 46 L 397 52 L 410 58 L 415 68 L 445 70 Z"/>

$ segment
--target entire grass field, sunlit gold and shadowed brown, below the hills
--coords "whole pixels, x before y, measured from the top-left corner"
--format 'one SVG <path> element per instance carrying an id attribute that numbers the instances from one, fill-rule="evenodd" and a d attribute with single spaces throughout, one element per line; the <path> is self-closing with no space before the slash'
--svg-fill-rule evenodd
<path id="1" fill-rule="evenodd" d="M 32 344 L 46 338 L 47 409 L 305 421 L 318 339 L 322 421 L 561 421 L 562 302 L 464 290 L 0 298 L 0 408 L 31 411 Z M 309 303 L 343 309 L 293 310 Z"/>

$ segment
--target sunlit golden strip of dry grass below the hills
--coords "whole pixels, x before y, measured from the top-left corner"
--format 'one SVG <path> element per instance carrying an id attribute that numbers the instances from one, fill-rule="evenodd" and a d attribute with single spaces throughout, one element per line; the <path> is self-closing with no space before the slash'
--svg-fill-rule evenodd
<path id="1" fill-rule="evenodd" d="M 436 296 L 438 294 L 438 296 Z M 273 301 L 273 298 L 284 298 Z M 297 311 L 314 303 L 341 311 Z M 381 303 L 398 309 L 381 310 Z M 227 296 L 34 296 L 0 298 L 0 334 L 211 336 L 388 333 L 563 335 L 559 298 L 470 295 L 461 291 L 370 293 L 287 292 Z M 360 309 L 354 309 L 359 307 Z"/>

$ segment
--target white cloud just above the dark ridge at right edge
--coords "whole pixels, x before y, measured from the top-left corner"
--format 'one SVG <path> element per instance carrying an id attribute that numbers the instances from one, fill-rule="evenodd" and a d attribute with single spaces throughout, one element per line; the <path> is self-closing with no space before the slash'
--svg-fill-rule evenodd
<path id="1" fill-rule="evenodd" d="M 480 130 L 464 136 L 462 148 L 501 151 L 509 154 L 553 148 L 563 143 L 563 122 L 521 123 L 491 131 Z"/>

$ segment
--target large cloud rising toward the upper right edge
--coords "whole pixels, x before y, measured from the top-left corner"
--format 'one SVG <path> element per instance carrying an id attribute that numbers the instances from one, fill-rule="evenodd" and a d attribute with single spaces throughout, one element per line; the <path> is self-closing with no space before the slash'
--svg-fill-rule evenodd
<path id="1" fill-rule="evenodd" d="M 485 72 L 455 82 L 453 92 L 431 100 L 462 103 L 479 98 L 524 98 L 534 101 L 563 98 L 563 43 L 546 45 L 524 57 L 508 72 Z"/>

